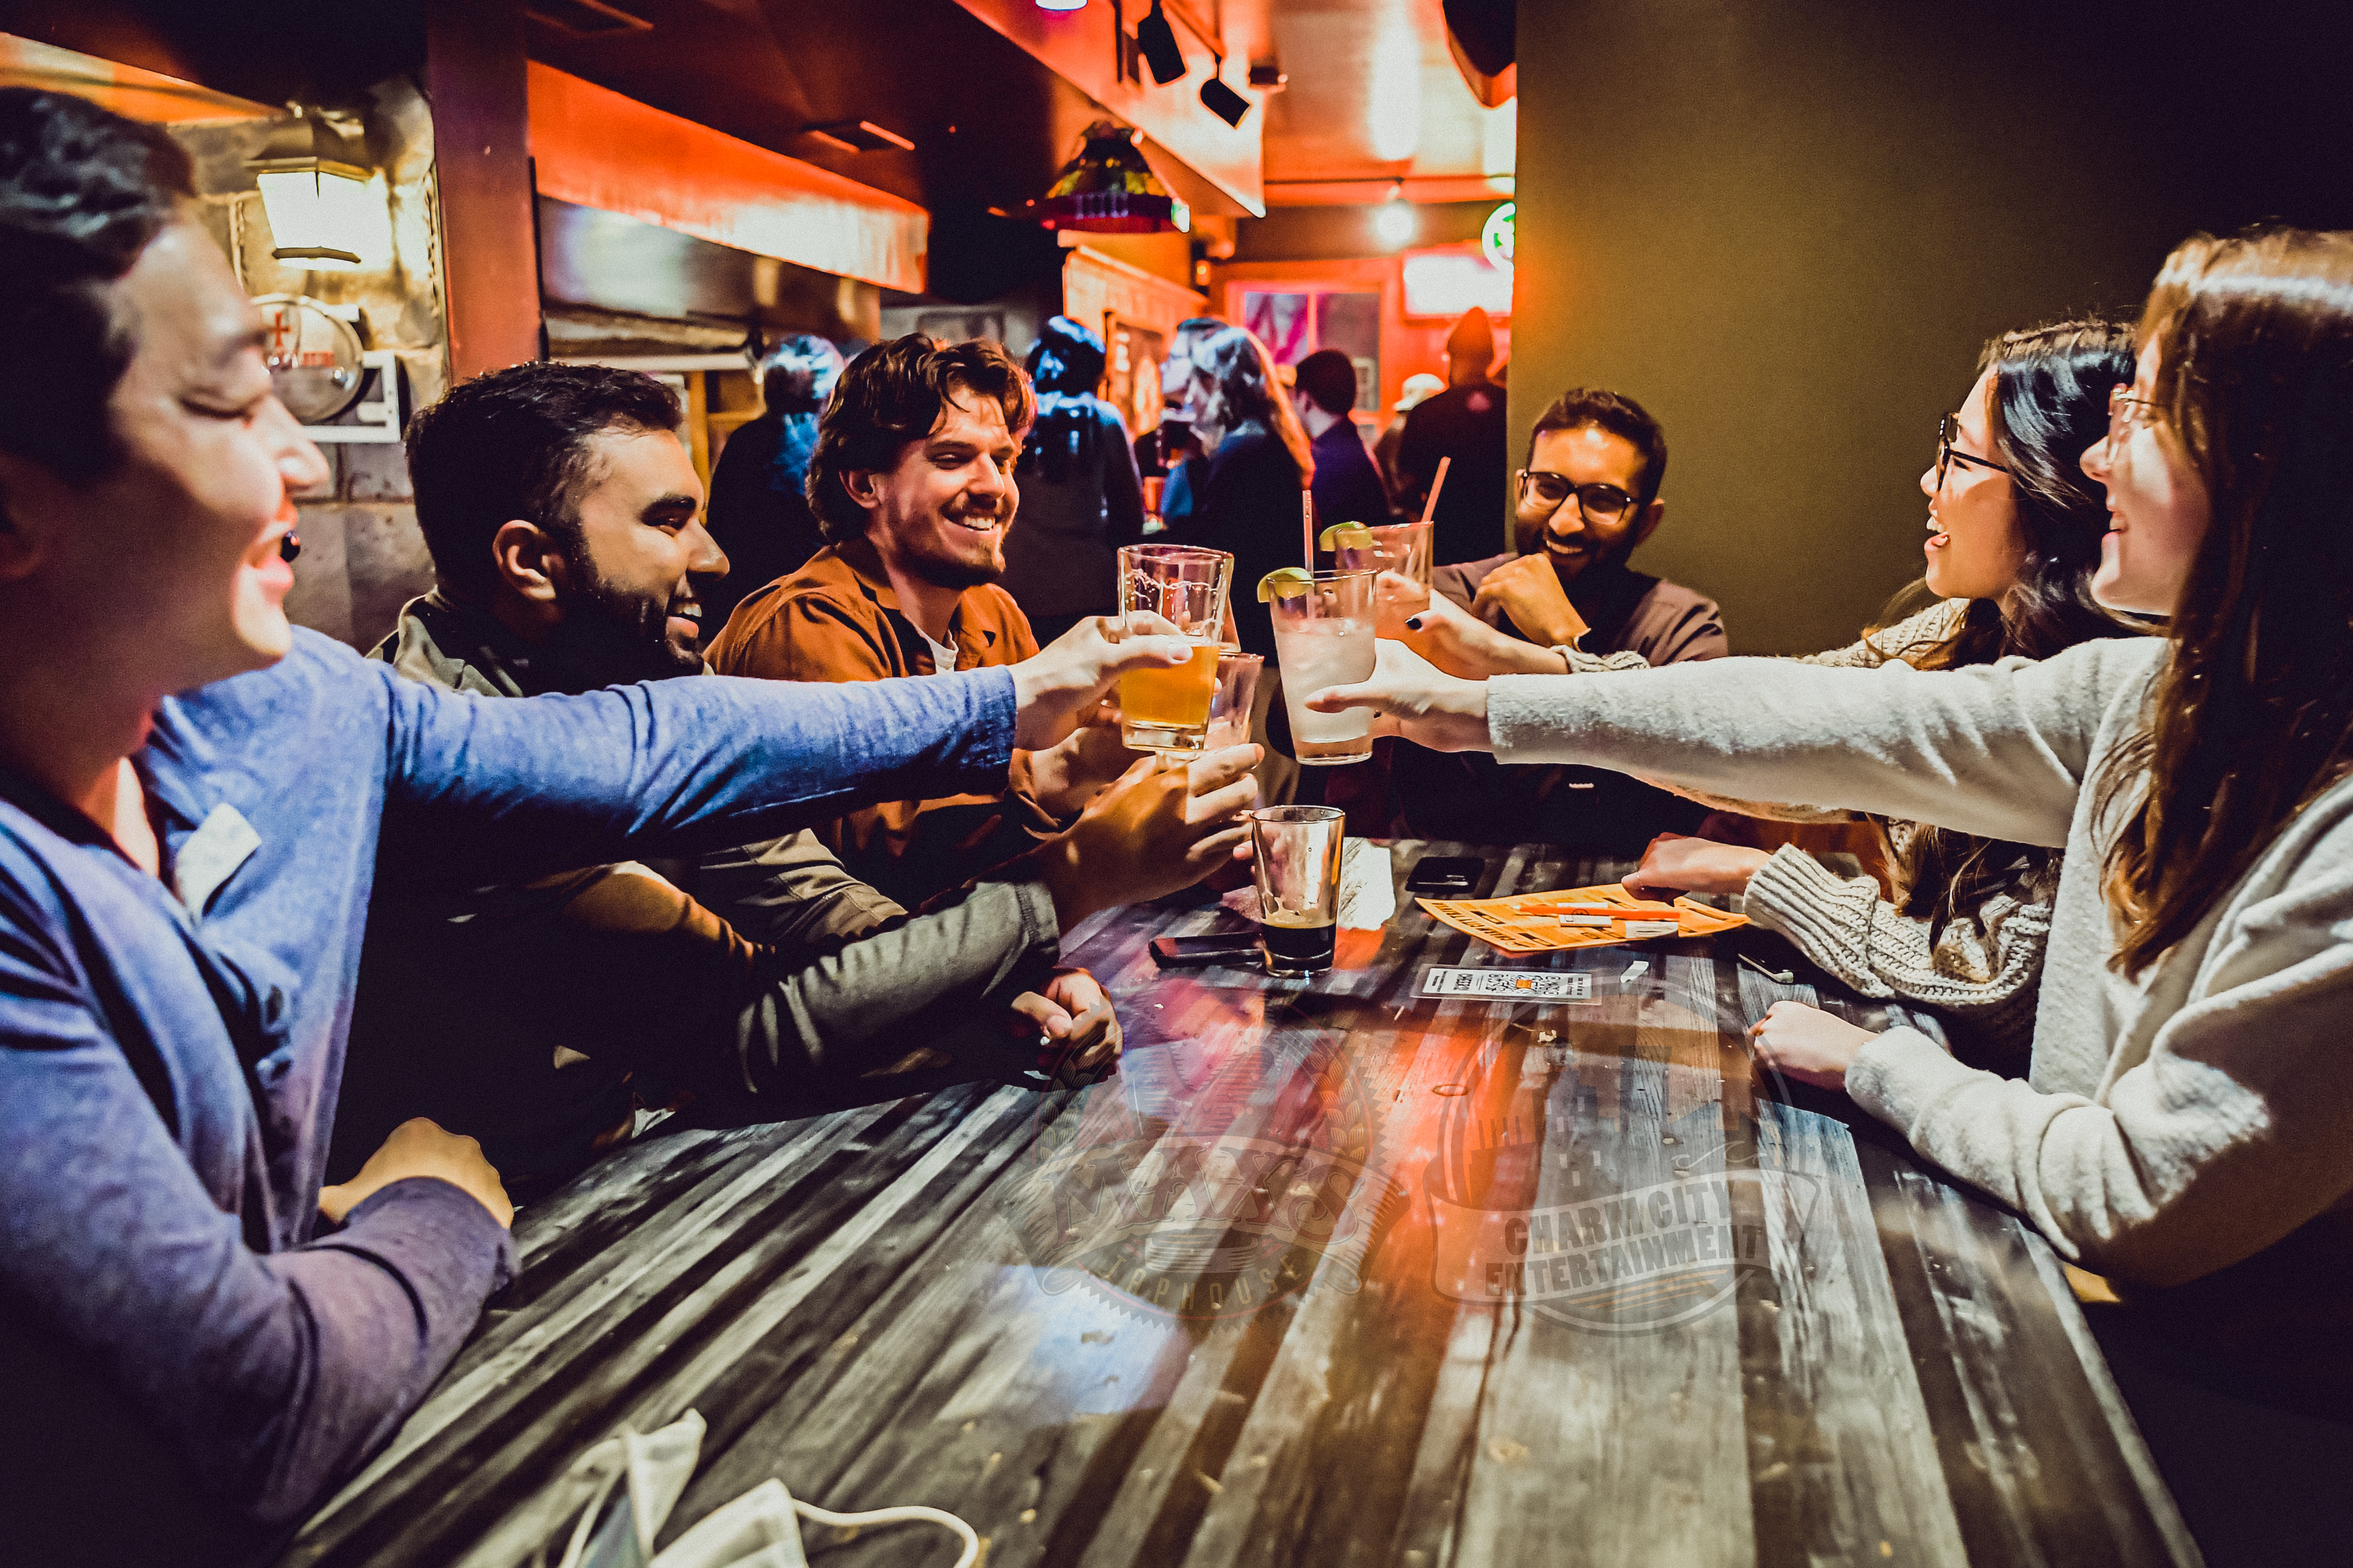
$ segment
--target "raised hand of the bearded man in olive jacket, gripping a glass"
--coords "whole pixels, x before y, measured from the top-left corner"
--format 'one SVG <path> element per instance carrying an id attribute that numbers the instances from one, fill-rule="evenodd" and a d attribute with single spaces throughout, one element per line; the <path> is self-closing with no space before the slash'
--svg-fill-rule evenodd
<path id="1" fill-rule="evenodd" d="M 1249 771 L 1261 755 L 1257 745 L 1228 745 L 1174 766 L 1144 757 L 1120 773 L 1031 856 L 1061 929 L 1096 910 L 1193 886 L 1228 858 L 1247 856 L 1249 823 L 1240 813 L 1259 799 Z"/>

